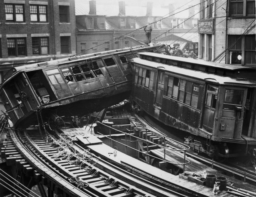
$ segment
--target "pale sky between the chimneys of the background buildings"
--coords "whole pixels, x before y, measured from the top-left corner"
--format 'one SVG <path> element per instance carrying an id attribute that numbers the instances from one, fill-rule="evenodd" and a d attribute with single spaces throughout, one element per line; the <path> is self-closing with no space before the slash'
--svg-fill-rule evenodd
<path id="1" fill-rule="evenodd" d="M 119 13 L 118 2 L 121 0 L 96 0 L 96 12 L 98 15 L 117 16 Z M 76 15 L 89 12 L 89 0 L 75 0 Z M 153 2 L 153 16 L 164 16 L 168 14 L 169 4 L 174 4 L 178 11 L 184 10 L 192 5 L 198 4 L 199 0 L 124 0 L 126 4 L 126 16 L 145 16 L 147 2 Z M 181 7 L 181 8 L 180 8 Z M 195 7 L 195 13 L 199 6 Z M 86 14 L 86 13 L 85 13 Z M 176 14 L 178 18 L 187 18 L 188 10 Z"/>

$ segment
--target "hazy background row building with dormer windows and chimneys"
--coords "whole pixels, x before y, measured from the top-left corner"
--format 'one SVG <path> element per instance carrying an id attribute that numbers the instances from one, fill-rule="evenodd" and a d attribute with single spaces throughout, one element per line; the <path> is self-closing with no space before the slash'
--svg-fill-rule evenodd
<path id="1" fill-rule="evenodd" d="M 76 46 L 78 53 L 88 54 L 94 51 L 112 50 L 144 44 L 146 43 L 146 36 L 142 27 L 145 26 L 148 22 L 152 23 L 160 19 L 164 15 L 164 13 L 160 11 L 158 13 L 162 14 L 161 16 L 153 16 L 153 13 L 156 13 L 154 11 L 155 8 L 153 6 L 153 2 L 148 2 L 146 4 L 146 9 L 143 10 L 143 7 L 135 8 L 133 6 L 132 8 L 129 8 L 129 6 L 125 5 L 124 1 L 120 1 L 118 3 L 119 9 L 117 8 L 118 10 L 116 13 L 118 14 L 116 14 L 116 16 L 103 15 L 104 12 L 96 10 L 98 7 L 100 8 L 99 10 L 101 10 L 102 7 L 100 6 L 101 5 L 96 6 L 95 0 L 89 1 L 89 6 L 87 7 L 89 7 L 90 10 L 82 9 L 86 7 L 85 4 L 76 4 Z M 114 6 L 112 7 L 112 9 L 115 8 L 116 7 Z M 136 10 L 143 10 L 144 16 L 127 16 L 126 8 L 127 10 L 133 10 L 134 12 L 129 13 L 134 14 L 136 14 Z M 105 10 L 106 9 L 107 8 L 105 8 Z M 172 4 L 165 8 L 167 13 L 174 12 L 174 9 L 174 5 Z M 188 18 L 193 15 L 194 8 L 191 8 L 188 14 Z M 197 24 L 198 19 L 192 17 L 185 21 L 186 19 L 187 18 L 184 17 L 178 18 L 176 16 L 170 16 L 154 23 L 152 25 L 153 30 L 151 33 L 152 40 L 160 35 L 162 36 L 158 38 L 162 38 L 174 33 L 185 33 L 191 28 L 192 30 L 190 30 L 190 32 L 196 32 L 197 29 L 193 29 L 193 27 Z M 136 30 L 139 28 L 142 29 Z M 168 32 L 168 30 L 170 31 Z M 132 32 L 132 34 L 128 34 L 130 32 Z M 120 38 L 120 36 L 123 37 Z"/>

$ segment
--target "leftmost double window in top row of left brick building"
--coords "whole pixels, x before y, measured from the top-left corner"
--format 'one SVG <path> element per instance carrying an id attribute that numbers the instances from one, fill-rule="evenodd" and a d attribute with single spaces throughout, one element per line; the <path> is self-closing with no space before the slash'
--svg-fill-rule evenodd
<path id="1" fill-rule="evenodd" d="M 24 22 L 24 5 L 5 4 L 5 18 L 10 22 Z"/>

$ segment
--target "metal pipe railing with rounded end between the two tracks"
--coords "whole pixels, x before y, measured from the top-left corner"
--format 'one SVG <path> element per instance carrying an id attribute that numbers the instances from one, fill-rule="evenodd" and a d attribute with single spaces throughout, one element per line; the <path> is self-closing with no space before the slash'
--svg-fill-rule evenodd
<path id="1" fill-rule="evenodd" d="M 109 137 L 108 137 L 107 135 L 104 135 L 104 134 L 100 133 L 100 132 L 98 132 L 98 133 L 99 133 L 100 135 L 103 135 L 104 137 L 108 138 L 108 139 L 110 140 L 110 145 L 111 145 L 111 141 L 114 141 L 114 142 L 116 142 L 116 143 L 119 143 L 119 144 L 124 145 L 124 146 L 125 146 L 125 153 L 126 153 L 126 154 L 127 154 L 127 147 L 129 147 L 129 148 L 131 148 L 131 149 L 133 149 L 133 150 L 135 150 L 135 151 L 138 151 L 138 152 L 140 152 L 140 153 L 146 154 L 146 155 L 147 155 L 147 161 L 148 161 L 148 163 L 149 163 L 149 157 L 153 157 L 153 158 L 155 158 L 155 159 L 160 159 L 161 161 L 170 163 L 170 164 L 172 164 L 172 165 L 183 165 L 183 171 L 185 171 L 185 165 L 189 163 L 189 161 L 186 160 L 186 151 L 187 151 L 188 149 L 190 149 L 190 147 L 189 147 L 188 145 L 185 145 L 185 144 L 183 144 L 183 143 L 180 143 L 180 142 L 178 142 L 178 141 L 176 141 L 176 140 L 174 140 L 174 139 L 170 139 L 169 137 L 165 137 L 165 136 L 163 136 L 163 138 L 164 138 L 164 145 L 156 144 L 156 143 L 154 143 L 154 142 L 148 140 L 148 134 L 147 134 L 147 133 L 148 133 L 148 131 L 150 131 L 150 130 L 147 129 L 147 128 L 144 128 L 144 127 L 142 127 L 142 128 L 137 128 L 137 129 L 134 129 L 134 130 L 131 130 L 131 131 L 136 131 L 136 130 L 140 130 L 140 129 L 146 129 L 146 139 L 142 139 L 141 137 L 137 137 L 137 136 L 135 136 L 135 135 L 132 135 L 132 134 L 131 134 L 131 131 L 129 131 L 129 133 L 127 133 L 127 132 L 120 131 L 120 130 L 118 130 L 118 129 L 112 128 L 112 127 L 110 127 L 110 126 L 108 126 L 108 125 L 105 125 L 104 123 L 101 123 L 101 122 L 97 122 L 97 123 L 100 124 L 100 125 L 103 125 L 104 127 L 107 127 L 107 128 L 109 129 Z M 125 144 L 124 144 L 124 143 L 121 143 L 121 142 L 119 142 L 119 141 L 116 141 L 116 140 L 114 140 L 114 139 L 112 139 L 112 138 L 111 138 L 111 130 L 114 130 L 114 131 L 123 133 L 123 134 L 125 135 Z M 146 143 L 146 145 L 147 145 L 147 151 L 146 151 L 146 153 L 143 152 L 143 151 L 139 151 L 139 150 L 137 150 L 137 149 L 135 149 L 135 148 L 133 148 L 133 147 L 127 145 L 127 136 L 134 137 L 134 138 L 138 139 L 137 141 L 144 141 L 144 143 Z M 177 149 L 175 148 L 175 149 L 174 149 L 174 148 L 166 147 L 166 141 L 167 141 L 167 140 L 169 141 L 169 143 L 170 143 L 170 141 L 175 142 L 175 146 L 177 146 L 177 144 L 178 144 L 179 147 L 183 147 L 183 148 L 179 148 L 179 149 L 178 149 L 178 148 L 177 148 Z M 159 157 L 155 157 L 155 156 L 153 156 L 153 155 L 150 155 L 150 154 L 149 154 L 149 144 L 156 145 L 156 146 L 158 146 L 159 148 L 164 149 L 164 159 L 161 159 L 161 158 L 159 158 Z M 184 151 L 184 160 L 183 160 L 184 162 L 183 162 L 183 163 L 173 163 L 173 162 L 170 162 L 170 161 L 166 160 L 166 151 Z"/>

